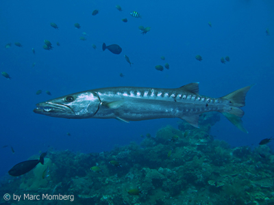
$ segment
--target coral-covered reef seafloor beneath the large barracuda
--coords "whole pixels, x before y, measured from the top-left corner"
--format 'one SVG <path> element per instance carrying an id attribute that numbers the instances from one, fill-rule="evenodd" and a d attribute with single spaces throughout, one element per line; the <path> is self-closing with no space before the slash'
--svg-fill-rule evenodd
<path id="1" fill-rule="evenodd" d="M 110 152 L 48 151 L 45 165 L 31 172 L 1 179 L 1 193 L 22 195 L 20 202 L 0 204 L 274 204 L 274 155 L 269 146 L 230 148 L 214 139 L 210 128 L 218 113 L 201 116 L 200 128 L 180 122 L 140 145 L 116 147 Z M 32 156 L 31 159 L 38 159 Z M 112 166 L 115 160 L 122 167 Z M 42 173 L 49 166 L 49 177 Z M 92 172 L 98 166 L 101 172 Z M 142 193 L 129 195 L 130 189 Z M 23 195 L 40 200 L 23 200 Z M 73 195 L 72 200 L 42 200 L 46 195 Z"/>

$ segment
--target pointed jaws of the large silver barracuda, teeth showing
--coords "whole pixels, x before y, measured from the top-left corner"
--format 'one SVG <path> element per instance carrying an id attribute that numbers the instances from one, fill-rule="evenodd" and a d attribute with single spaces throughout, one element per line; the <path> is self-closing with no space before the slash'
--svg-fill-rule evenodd
<path id="1" fill-rule="evenodd" d="M 51 115 L 52 114 L 74 114 L 73 110 L 66 105 L 55 104 L 52 102 L 41 102 L 36 105 L 36 109 L 34 109 L 34 113 Z"/>

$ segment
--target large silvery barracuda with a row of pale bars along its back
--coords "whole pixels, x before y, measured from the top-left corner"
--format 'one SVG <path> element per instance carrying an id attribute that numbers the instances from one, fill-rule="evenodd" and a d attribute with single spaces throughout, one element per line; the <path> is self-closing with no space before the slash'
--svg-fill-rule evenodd
<path id="1" fill-rule="evenodd" d="M 199 83 L 175 89 L 106 87 L 77 92 L 38 103 L 34 113 L 55 118 L 116 118 L 124 122 L 158 118 L 181 118 L 198 127 L 199 115 L 219 111 L 241 131 L 245 96 L 251 86 L 221 98 L 199 95 Z"/>

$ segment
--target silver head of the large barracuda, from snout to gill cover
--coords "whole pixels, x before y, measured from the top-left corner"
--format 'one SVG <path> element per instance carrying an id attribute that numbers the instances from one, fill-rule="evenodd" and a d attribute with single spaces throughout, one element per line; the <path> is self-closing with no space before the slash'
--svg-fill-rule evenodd
<path id="1" fill-rule="evenodd" d="M 100 100 L 94 92 L 78 92 L 36 104 L 34 113 L 55 118 L 91 118 L 97 113 Z"/>

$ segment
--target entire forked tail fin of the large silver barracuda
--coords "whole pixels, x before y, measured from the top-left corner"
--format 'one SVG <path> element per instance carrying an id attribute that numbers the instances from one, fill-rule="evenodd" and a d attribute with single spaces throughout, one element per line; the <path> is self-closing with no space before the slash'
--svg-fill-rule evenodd
<path id="1" fill-rule="evenodd" d="M 245 113 L 240 107 L 245 106 L 245 96 L 252 86 L 253 85 L 242 87 L 241 89 L 222 97 L 223 99 L 229 100 L 229 105 L 232 106 L 231 109 L 222 112 L 223 115 L 244 133 L 248 133 L 248 131 L 242 125 L 241 118 Z"/>

